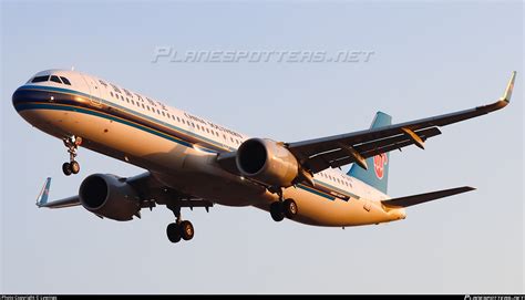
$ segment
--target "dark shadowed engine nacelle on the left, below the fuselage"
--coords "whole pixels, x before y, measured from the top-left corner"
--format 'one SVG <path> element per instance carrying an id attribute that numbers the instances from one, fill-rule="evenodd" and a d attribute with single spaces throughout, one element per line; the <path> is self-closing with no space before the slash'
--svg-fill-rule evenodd
<path id="1" fill-rule="evenodd" d="M 93 214 L 114 220 L 131 220 L 141 210 L 136 190 L 124 178 L 93 174 L 80 185 L 80 201 Z"/>

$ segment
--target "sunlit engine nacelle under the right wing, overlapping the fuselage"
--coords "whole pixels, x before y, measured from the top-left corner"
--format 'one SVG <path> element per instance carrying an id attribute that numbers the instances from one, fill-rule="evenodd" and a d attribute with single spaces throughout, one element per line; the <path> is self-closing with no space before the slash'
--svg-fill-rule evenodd
<path id="1" fill-rule="evenodd" d="M 243 176 L 272 187 L 289 187 L 299 175 L 299 163 L 294 154 L 266 138 L 245 141 L 237 151 L 236 164 Z"/>

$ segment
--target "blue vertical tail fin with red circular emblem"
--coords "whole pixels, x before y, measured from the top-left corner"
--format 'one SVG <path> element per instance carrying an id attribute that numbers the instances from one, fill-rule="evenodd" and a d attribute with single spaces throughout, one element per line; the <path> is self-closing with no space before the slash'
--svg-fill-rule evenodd
<path id="1" fill-rule="evenodd" d="M 383 127 L 391 124 L 392 116 L 382 112 L 378 112 L 370 128 Z M 347 174 L 387 194 L 389 182 L 389 154 L 383 153 L 367 158 L 368 169 L 353 164 Z"/>

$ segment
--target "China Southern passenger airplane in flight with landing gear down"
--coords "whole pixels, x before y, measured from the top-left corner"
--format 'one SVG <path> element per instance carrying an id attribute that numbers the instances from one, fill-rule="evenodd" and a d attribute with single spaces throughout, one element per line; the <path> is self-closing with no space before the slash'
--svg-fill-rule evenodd
<path id="1" fill-rule="evenodd" d="M 254 206 L 306 225 L 348 227 L 401 220 L 405 208 L 473 190 L 463 186 L 392 198 L 387 195 L 391 151 L 440 135 L 440 127 L 505 107 L 516 72 L 496 102 L 392 124 L 378 112 L 369 130 L 300 142 L 249 137 L 96 76 L 69 70 L 37 73 L 12 95 L 31 125 L 63 141 L 65 175 L 78 174 L 79 147 L 146 169 L 134 177 L 92 174 L 78 195 L 49 201 L 51 178 L 38 207 L 83 206 L 100 218 L 141 218 L 164 205 L 175 221 L 169 241 L 191 240 L 195 229 L 182 208 Z M 344 174 L 341 166 L 352 164 Z"/>

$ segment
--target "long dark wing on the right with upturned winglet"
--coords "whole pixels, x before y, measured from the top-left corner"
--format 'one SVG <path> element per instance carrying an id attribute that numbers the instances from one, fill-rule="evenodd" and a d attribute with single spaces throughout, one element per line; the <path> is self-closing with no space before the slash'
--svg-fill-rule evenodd
<path id="1" fill-rule="evenodd" d="M 504 95 L 496 102 L 470 110 L 459 111 L 411 122 L 371 128 L 354 133 L 286 144 L 311 173 L 328 167 L 340 167 L 357 163 L 367 168 L 366 158 L 415 144 L 424 148 L 424 141 L 441 134 L 439 127 L 477 117 L 505 107 L 512 96 L 516 72 L 512 73 Z"/>

